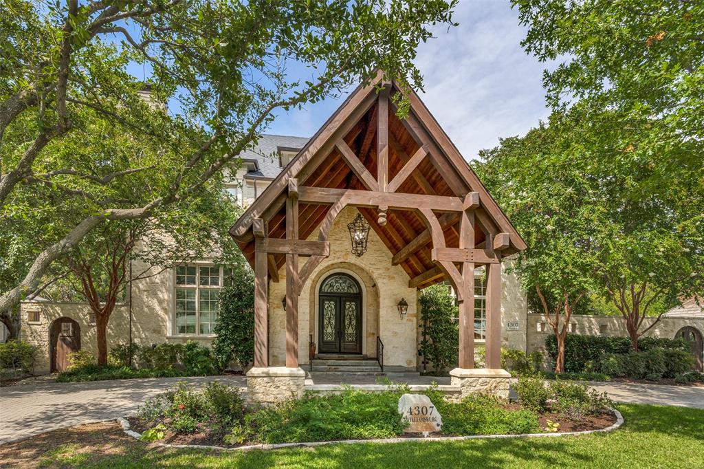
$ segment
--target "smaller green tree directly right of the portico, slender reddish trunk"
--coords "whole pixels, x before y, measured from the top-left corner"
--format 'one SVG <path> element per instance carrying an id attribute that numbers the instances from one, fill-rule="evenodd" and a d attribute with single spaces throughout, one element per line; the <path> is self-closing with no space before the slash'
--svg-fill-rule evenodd
<path id="1" fill-rule="evenodd" d="M 555 371 L 565 366 L 565 337 L 574 308 L 593 290 L 596 269 L 594 228 L 603 207 L 593 198 L 589 175 L 571 156 L 572 132 L 558 116 L 525 137 L 502 139 L 480 152 L 477 173 L 498 199 L 527 249 L 513 270 L 532 290 L 558 344 Z"/>

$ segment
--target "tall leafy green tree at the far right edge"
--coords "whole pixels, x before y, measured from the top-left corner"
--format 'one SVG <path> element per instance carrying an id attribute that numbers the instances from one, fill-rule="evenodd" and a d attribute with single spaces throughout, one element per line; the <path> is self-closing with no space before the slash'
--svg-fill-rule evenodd
<path id="1" fill-rule="evenodd" d="M 514 0 L 548 101 L 601 193 L 603 296 L 638 337 L 704 291 L 704 10 L 688 0 Z M 642 329 L 647 315 L 655 323 Z"/>

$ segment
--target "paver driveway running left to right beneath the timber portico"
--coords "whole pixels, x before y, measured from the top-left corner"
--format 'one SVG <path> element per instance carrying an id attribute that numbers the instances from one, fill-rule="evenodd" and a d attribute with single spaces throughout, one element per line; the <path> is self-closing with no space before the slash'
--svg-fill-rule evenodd
<path id="1" fill-rule="evenodd" d="M 244 376 L 152 378 L 99 382 L 34 382 L 0 388 L 0 444 L 34 434 L 82 423 L 129 415 L 147 399 L 178 381 L 205 384 L 213 380 L 245 386 Z M 428 384 L 442 378 L 397 379 L 409 384 Z M 325 380 L 316 380 L 322 382 Z M 348 384 L 376 384 L 374 378 L 339 379 Z M 417 381 L 417 382 L 415 382 Z M 332 381 L 329 384 L 334 384 Z M 599 392 L 608 392 L 617 402 L 662 404 L 704 408 L 704 387 L 593 382 Z"/>

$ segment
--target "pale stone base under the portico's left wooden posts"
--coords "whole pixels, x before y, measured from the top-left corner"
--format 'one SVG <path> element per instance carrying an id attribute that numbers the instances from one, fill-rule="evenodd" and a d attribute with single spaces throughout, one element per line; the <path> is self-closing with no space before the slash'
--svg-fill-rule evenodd
<path id="1" fill-rule="evenodd" d="M 301 368 L 269 366 L 247 372 L 247 392 L 253 404 L 277 404 L 303 396 L 306 372 Z"/>

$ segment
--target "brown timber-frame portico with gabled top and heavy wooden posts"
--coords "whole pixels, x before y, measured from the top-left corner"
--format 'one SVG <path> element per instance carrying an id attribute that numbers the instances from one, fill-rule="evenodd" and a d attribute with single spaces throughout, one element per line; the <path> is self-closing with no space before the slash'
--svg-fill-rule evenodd
<path id="1" fill-rule="evenodd" d="M 474 368 L 474 268 L 486 266 L 486 368 L 501 368 L 501 260 L 526 245 L 415 92 L 408 116 L 396 116 L 397 92 L 382 72 L 360 85 L 230 229 L 255 271 L 256 368 L 269 364 L 268 287 L 284 265 L 286 366 L 298 368 L 298 297 L 346 206 L 409 287 L 453 285 L 462 369 Z"/>

